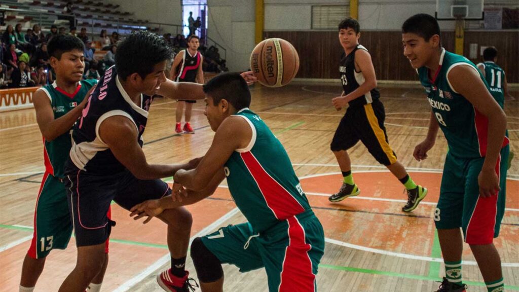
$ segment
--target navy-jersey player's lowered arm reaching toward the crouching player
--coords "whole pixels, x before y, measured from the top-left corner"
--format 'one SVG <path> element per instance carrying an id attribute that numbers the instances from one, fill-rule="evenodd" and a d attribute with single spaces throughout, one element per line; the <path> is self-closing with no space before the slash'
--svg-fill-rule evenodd
<path id="1" fill-rule="evenodd" d="M 138 179 L 170 177 L 181 168 L 189 168 L 189 164 L 148 164 L 137 142 L 137 128 L 125 116 L 115 115 L 106 118 L 99 126 L 99 138 L 108 145 L 115 158 Z"/>

